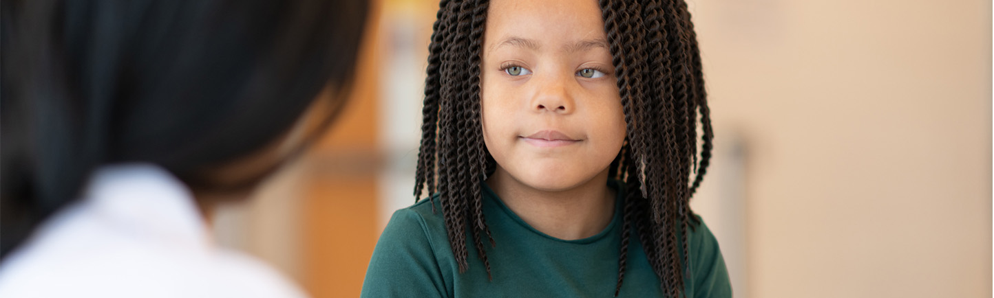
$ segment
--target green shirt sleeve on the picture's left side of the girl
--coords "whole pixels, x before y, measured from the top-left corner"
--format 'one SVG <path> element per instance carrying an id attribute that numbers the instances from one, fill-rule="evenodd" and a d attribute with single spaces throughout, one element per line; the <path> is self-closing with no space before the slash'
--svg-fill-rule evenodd
<path id="1" fill-rule="evenodd" d="M 373 250 L 361 297 L 445 297 L 446 292 L 424 220 L 414 210 L 398 210 Z"/>

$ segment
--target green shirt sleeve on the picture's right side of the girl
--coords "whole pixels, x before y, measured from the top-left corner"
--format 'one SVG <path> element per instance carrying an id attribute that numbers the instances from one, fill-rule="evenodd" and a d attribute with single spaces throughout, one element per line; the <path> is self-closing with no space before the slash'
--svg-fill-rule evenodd
<path id="1" fill-rule="evenodd" d="M 700 219 L 700 217 L 699 217 Z M 691 257 L 691 272 L 693 274 L 694 297 L 696 298 L 732 298 L 732 282 L 729 280 L 729 270 L 725 267 L 725 257 L 718 247 L 718 240 L 711 234 L 708 226 L 701 221 L 697 231 L 691 232 L 695 237 L 691 240 L 694 248 Z"/>

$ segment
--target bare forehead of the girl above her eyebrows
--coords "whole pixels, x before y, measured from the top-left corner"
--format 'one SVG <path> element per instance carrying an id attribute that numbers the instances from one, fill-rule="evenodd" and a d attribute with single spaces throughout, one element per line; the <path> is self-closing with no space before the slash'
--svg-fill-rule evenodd
<path id="1" fill-rule="evenodd" d="M 603 24 L 594 0 L 493 0 L 484 49 L 568 50 L 605 40 Z"/>

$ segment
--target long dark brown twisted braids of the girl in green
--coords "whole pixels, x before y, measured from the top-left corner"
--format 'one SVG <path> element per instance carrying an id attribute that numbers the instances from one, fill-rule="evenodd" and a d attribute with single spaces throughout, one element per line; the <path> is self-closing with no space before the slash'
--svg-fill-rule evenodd
<path id="1" fill-rule="evenodd" d="M 624 281 L 634 234 L 663 292 L 679 297 L 691 272 L 687 232 L 700 224 L 689 202 L 706 173 L 714 139 L 694 26 L 684 0 L 598 1 L 627 132 L 609 166 L 610 178 L 629 190 L 614 294 Z M 481 209 L 480 186 L 495 164 L 484 147 L 480 114 L 488 1 L 441 0 L 438 6 L 428 46 L 414 197 L 437 197 L 459 272 L 468 269 L 466 239 L 471 238 L 492 279 L 484 248 L 496 243 Z"/>

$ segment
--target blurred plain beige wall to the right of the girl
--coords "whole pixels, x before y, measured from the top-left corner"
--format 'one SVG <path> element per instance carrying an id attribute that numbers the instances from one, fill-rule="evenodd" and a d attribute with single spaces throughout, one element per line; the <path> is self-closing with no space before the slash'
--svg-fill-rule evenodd
<path id="1" fill-rule="evenodd" d="M 743 297 L 991 296 L 991 3 L 691 3 Z M 739 140 L 739 141 L 737 141 Z M 706 202 L 710 200 L 710 202 Z M 723 200 L 733 200 L 724 202 Z M 738 280 L 741 284 L 742 280 Z M 737 290 L 740 290 L 737 288 Z"/>

